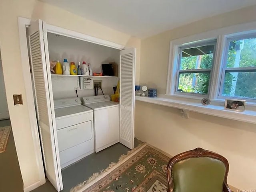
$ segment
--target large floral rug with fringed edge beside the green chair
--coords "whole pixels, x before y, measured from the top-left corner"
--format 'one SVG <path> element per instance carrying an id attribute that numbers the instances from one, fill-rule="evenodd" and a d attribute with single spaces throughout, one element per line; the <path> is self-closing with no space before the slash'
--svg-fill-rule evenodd
<path id="1" fill-rule="evenodd" d="M 71 192 L 167 192 L 170 157 L 143 144 L 121 159 Z"/>

